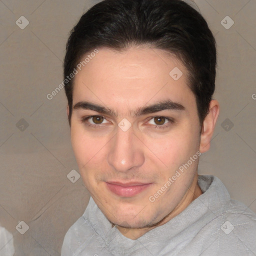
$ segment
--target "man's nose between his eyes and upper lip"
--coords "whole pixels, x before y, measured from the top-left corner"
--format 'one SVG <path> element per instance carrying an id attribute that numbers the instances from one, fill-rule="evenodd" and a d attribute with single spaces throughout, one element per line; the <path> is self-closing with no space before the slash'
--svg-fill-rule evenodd
<path id="1" fill-rule="evenodd" d="M 126 131 L 118 127 L 110 143 L 107 160 L 116 171 L 126 172 L 143 164 L 142 142 L 133 133 L 132 126 Z"/>

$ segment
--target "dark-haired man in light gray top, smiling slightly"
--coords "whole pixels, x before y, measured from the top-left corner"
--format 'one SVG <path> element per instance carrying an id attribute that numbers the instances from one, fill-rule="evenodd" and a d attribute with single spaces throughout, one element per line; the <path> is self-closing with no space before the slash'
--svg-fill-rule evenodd
<path id="1" fill-rule="evenodd" d="M 215 40 L 181 0 L 104 0 L 64 60 L 71 143 L 90 200 L 65 255 L 256 255 L 256 215 L 197 174 L 219 113 Z"/>

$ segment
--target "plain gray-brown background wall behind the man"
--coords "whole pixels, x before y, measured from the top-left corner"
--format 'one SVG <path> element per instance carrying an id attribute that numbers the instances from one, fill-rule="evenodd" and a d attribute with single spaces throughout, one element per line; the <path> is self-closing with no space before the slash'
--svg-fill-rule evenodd
<path id="1" fill-rule="evenodd" d="M 60 255 L 65 232 L 89 199 L 81 178 L 66 177 L 78 169 L 64 89 L 51 100 L 46 94 L 63 80 L 70 29 L 96 2 L 0 0 L 0 226 L 12 233 L 6 247 L 13 242 L 15 255 Z M 195 3 L 217 41 L 220 102 L 198 173 L 219 177 L 232 198 L 256 212 L 256 0 Z M 29 21 L 24 29 L 15 24 L 22 15 Z M 229 29 L 221 24 L 227 15 L 234 21 Z M 19 221 L 29 226 L 24 234 L 15 228 Z"/>

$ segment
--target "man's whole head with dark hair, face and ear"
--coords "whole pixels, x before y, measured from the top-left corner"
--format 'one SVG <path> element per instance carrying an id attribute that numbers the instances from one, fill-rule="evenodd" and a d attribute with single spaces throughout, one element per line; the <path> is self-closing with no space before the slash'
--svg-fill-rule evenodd
<path id="1" fill-rule="evenodd" d="M 206 21 L 181 0 L 104 0 L 71 30 L 64 78 L 72 147 L 112 223 L 153 226 L 188 200 L 194 155 L 209 148 L 218 114 L 215 66 Z"/>

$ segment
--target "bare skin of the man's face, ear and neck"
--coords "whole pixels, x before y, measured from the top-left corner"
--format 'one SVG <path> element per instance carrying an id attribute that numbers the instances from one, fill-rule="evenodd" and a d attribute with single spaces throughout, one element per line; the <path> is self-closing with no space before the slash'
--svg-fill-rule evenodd
<path id="1" fill-rule="evenodd" d="M 176 81 L 169 75 L 174 67 L 183 73 Z M 132 115 L 139 107 L 166 99 L 185 109 Z M 218 102 L 211 100 L 209 113 L 200 126 L 195 96 L 187 85 L 187 71 L 178 59 L 148 46 L 122 52 L 99 48 L 98 54 L 74 77 L 73 105 L 82 100 L 117 113 L 114 116 L 73 109 L 70 131 L 86 188 L 123 235 L 130 239 L 140 237 L 169 221 L 202 194 L 197 184 L 198 157 L 154 202 L 148 199 L 196 151 L 209 149 L 219 113 Z M 91 115 L 103 118 L 81 121 Z M 173 122 L 162 117 L 162 125 L 155 116 L 172 118 Z M 127 131 L 118 127 L 123 118 L 131 123 Z M 107 188 L 105 181 L 109 180 L 151 184 L 139 194 L 123 197 Z"/>

